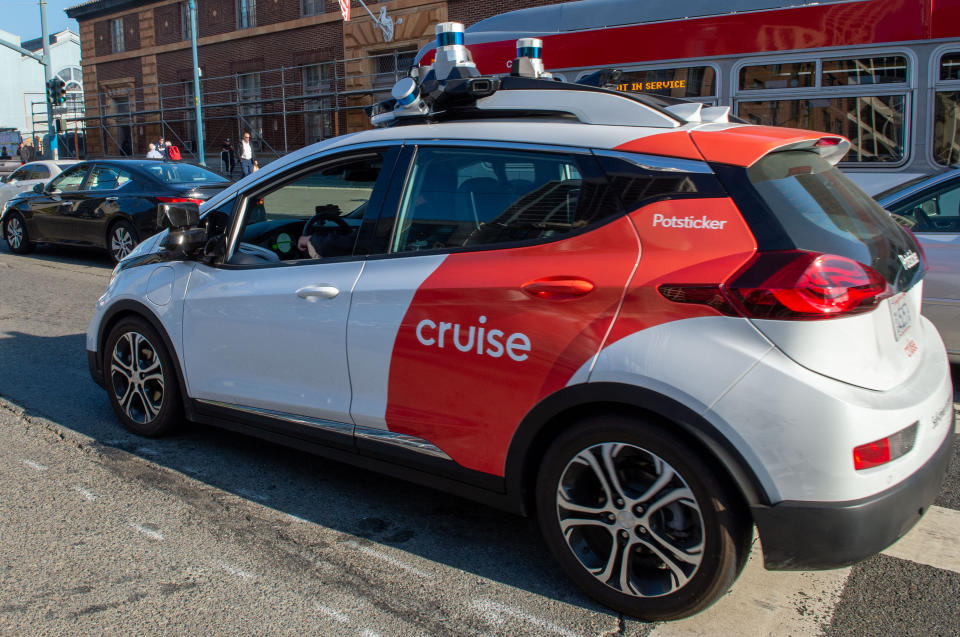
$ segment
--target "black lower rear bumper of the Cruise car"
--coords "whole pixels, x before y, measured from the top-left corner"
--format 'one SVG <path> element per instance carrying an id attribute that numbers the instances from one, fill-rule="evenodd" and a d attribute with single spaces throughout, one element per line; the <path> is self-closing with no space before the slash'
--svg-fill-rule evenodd
<path id="1" fill-rule="evenodd" d="M 905 535 L 940 492 L 953 450 L 953 416 L 949 427 L 926 464 L 874 496 L 850 502 L 752 506 L 764 566 L 769 570 L 840 568 L 879 553 Z"/>

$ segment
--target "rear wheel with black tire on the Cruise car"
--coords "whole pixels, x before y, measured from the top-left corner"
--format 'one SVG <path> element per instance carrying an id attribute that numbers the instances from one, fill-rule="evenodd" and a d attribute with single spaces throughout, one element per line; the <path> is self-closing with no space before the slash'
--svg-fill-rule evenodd
<path id="1" fill-rule="evenodd" d="M 610 491 L 605 457 L 617 477 L 605 478 Z M 753 523 L 727 480 L 667 426 L 624 415 L 584 418 L 559 436 L 537 476 L 536 511 L 547 546 L 587 595 L 647 621 L 710 606 L 750 552 Z"/>

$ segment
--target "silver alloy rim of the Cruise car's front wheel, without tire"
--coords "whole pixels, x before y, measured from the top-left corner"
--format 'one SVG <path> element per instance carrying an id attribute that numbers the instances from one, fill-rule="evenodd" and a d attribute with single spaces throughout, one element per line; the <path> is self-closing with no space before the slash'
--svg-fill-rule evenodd
<path id="1" fill-rule="evenodd" d="M 156 348 L 142 334 L 126 332 L 110 360 L 113 395 L 130 420 L 146 424 L 163 407 L 163 366 Z"/>

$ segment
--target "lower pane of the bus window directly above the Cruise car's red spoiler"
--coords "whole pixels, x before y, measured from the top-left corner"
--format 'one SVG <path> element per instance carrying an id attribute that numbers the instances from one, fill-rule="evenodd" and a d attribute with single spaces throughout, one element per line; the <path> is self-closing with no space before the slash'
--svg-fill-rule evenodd
<path id="1" fill-rule="evenodd" d="M 851 96 L 739 102 L 737 115 L 751 124 L 805 128 L 850 140 L 845 162 L 898 162 L 905 157 L 906 97 Z"/>

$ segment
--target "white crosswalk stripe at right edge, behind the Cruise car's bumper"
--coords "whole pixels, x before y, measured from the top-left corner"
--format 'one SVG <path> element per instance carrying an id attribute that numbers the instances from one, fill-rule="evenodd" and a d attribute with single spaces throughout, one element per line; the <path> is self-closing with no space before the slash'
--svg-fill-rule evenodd
<path id="1" fill-rule="evenodd" d="M 960 573 L 960 511 L 932 506 L 884 555 Z"/>

